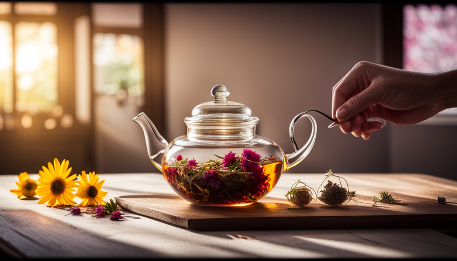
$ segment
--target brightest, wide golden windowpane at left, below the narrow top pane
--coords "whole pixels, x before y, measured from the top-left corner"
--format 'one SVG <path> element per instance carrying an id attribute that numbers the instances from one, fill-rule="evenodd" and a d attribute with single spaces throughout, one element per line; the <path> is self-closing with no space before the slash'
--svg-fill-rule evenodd
<path id="1" fill-rule="evenodd" d="M 51 112 L 58 103 L 56 24 L 18 22 L 14 39 L 16 110 Z"/>

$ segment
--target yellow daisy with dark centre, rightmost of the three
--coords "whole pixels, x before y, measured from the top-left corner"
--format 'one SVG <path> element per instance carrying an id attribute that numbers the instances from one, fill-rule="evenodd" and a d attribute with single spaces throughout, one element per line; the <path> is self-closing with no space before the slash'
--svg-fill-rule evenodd
<path id="1" fill-rule="evenodd" d="M 89 180 L 87 180 L 86 171 L 83 170 L 82 175 L 78 175 L 78 192 L 75 195 L 83 200 L 80 206 L 105 205 L 103 198 L 107 192 L 101 191 L 101 185 L 104 182 L 105 180 L 98 182 L 98 174 L 95 172 L 89 172 Z"/>

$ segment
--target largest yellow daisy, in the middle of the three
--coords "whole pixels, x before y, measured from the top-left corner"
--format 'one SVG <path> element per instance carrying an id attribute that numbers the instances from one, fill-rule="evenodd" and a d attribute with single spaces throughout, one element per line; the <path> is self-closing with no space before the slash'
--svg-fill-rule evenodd
<path id="1" fill-rule="evenodd" d="M 68 161 L 63 160 L 62 164 L 54 159 L 54 166 L 48 162 L 47 168 L 38 172 L 37 194 L 41 197 L 38 204 L 47 202 L 48 206 L 74 204 L 74 191 L 77 181 L 73 181 L 76 174 L 68 176 L 71 168 L 68 168 Z"/>

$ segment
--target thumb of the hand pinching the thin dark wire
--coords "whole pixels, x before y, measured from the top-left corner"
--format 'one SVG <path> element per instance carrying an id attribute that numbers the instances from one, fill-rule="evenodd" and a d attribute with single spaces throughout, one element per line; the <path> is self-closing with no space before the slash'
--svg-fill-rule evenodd
<path id="1" fill-rule="evenodd" d="M 369 106 L 379 102 L 379 97 L 379 90 L 373 85 L 369 86 L 359 94 L 348 99 L 338 108 L 336 112 L 337 119 L 339 121 L 350 120 Z"/>

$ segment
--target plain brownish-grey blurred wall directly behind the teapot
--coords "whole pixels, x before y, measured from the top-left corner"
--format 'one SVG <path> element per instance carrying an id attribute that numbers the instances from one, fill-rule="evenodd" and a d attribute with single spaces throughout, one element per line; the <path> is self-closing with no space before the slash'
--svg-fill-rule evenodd
<path id="1" fill-rule="evenodd" d="M 380 12 L 378 4 L 167 4 L 165 138 L 186 134 L 184 118 L 222 84 L 260 118 L 257 134 L 291 153 L 295 115 L 331 114 L 332 88 L 352 66 L 382 63 Z M 288 172 L 389 172 L 391 126 L 364 141 L 315 118 L 314 148 Z M 299 146 L 310 135 L 301 121 Z"/>

